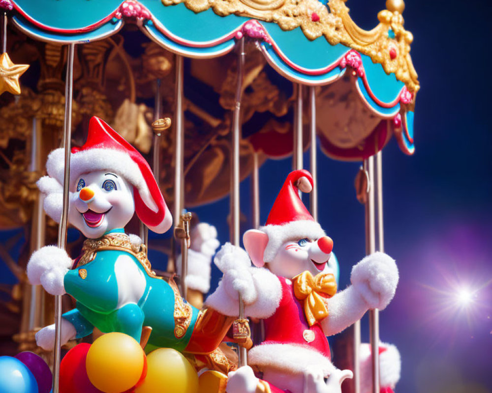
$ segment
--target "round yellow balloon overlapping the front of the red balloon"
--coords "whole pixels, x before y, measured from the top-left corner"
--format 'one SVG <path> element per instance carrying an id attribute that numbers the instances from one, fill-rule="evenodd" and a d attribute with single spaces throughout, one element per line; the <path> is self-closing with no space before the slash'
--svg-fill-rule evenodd
<path id="1" fill-rule="evenodd" d="M 87 353 L 87 376 L 105 393 L 121 393 L 133 387 L 142 375 L 145 353 L 134 338 L 108 333 L 97 338 Z"/>

